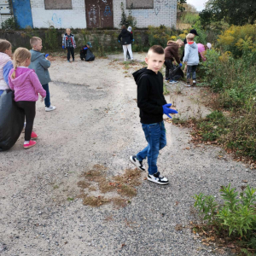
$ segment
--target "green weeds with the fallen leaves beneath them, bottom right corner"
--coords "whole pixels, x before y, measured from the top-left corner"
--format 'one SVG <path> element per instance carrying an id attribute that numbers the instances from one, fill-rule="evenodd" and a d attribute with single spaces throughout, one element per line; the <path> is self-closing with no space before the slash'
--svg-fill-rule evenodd
<path id="1" fill-rule="evenodd" d="M 221 187 L 220 192 L 223 203 L 218 203 L 213 195 L 200 193 L 194 196 L 194 207 L 202 222 L 194 231 L 200 233 L 203 230 L 204 235 L 211 237 L 205 241 L 228 241 L 230 247 L 235 248 L 234 253 L 255 255 L 256 189 L 241 187 L 239 193 L 229 184 Z"/>

